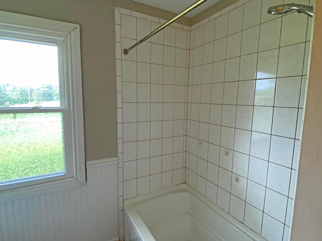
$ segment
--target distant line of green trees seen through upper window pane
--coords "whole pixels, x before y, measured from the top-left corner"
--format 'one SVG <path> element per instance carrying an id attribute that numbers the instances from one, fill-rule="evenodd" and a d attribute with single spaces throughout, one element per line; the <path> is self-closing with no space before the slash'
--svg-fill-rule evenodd
<path id="1" fill-rule="evenodd" d="M 38 88 L 17 87 L 10 84 L 0 85 L 0 107 L 29 102 L 39 104 L 56 100 L 59 100 L 59 88 L 52 84 L 43 84 Z"/>

